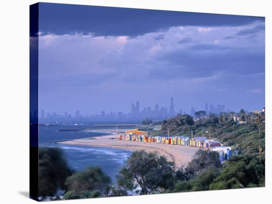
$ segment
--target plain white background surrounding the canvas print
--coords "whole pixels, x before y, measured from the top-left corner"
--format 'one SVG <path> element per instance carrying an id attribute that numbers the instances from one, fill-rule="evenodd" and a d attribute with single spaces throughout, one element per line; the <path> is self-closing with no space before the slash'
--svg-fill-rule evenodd
<path id="1" fill-rule="evenodd" d="M 46 0 L 45 0 L 46 1 Z M 44 1 L 44 2 L 45 2 Z M 0 203 L 35 203 L 29 194 L 29 5 L 34 0 L 0 4 Z M 266 17 L 266 187 L 152 196 L 60 201 L 65 204 L 271 203 L 272 71 L 269 69 L 272 6 L 269 0 L 51 0 L 46 2 L 151 8 Z M 271 68 L 271 66 L 270 66 Z M 58 203 L 57 201 L 55 203 Z"/>

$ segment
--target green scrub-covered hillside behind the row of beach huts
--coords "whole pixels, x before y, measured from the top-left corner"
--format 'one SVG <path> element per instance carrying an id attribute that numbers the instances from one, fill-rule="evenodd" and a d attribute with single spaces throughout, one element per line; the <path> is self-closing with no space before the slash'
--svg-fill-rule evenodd
<path id="1" fill-rule="evenodd" d="M 243 110 L 241 110 L 242 112 Z M 238 124 L 233 119 L 222 121 L 222 116 L 211 114 L 209 118 L 193 121 L 189 115 L 178 115 L 162 121 L 161 130 L 150 132 L 151 135 L 170 134 L 173 136 L 206 136 L 221 141 L 232 150 L 241 154 L 259 153 L 259 123 L 252 120 Z M 260 145 L 265 152 L 265 122 L 260 124 Z"/>

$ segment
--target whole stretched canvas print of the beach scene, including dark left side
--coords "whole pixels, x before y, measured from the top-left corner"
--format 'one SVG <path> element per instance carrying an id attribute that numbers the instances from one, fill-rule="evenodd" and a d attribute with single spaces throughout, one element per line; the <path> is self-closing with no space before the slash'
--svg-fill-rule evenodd
<path id="1" fill-rule="evenodd" d="M 30 6 L 32 199 L 264 186 L 265 17 Z"/>

